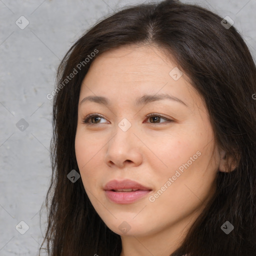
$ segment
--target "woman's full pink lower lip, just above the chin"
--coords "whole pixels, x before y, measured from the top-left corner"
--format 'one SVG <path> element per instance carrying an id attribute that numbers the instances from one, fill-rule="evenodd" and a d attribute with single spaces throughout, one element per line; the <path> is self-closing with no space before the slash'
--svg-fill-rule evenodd
<path id="1" fill-rule="evenodd" d="M 131 203 L 144 196 L 146 196 L 150 190 L 137 190 L 130 192 L 116 192 L 112 190 L 105 190 L 105 194 L 108 199 L 115 203 Z"/>

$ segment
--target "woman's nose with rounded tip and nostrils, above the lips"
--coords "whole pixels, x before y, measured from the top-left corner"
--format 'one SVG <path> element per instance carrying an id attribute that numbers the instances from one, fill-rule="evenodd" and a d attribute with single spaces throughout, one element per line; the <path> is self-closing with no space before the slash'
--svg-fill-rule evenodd
<path id="1" fill-rule="evenodd" d="M 141 148 L 143 143 L 138 137 L 139 135 L 132 127 L 124 131 L 117 126 L 114 135 L 106 145 L 105 163 L 112 168 L 140 165 L 142 162 Z"/>

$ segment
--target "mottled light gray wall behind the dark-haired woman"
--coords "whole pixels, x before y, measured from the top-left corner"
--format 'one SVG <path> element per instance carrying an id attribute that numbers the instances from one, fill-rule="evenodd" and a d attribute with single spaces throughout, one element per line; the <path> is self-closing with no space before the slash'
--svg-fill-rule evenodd
<path id="1" fill-rule="evenodd" d="M 230 16 L 255 59 L 256 0 L 181 1 Z M 51 175 L 52 100 L 46 94 L 60 59 L 97 20 L 142 2 L 0 0 L 0 255 L 36 255 L 42 241 L 46 212 L 43 207 L 40 223 L 39 210 Z M 23 29 L 15 23 L 25 24 L 20 16 L 29 21 Z M 24 234 L 15 228 L 21 220 L 29 227 Z"/>

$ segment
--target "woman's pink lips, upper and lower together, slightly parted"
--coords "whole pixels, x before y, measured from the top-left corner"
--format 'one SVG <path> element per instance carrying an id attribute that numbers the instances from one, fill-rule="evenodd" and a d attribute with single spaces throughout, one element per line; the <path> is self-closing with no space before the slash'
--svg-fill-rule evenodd
<path id="1" fill-rule="evenodd" d="M 116 189 L 139 189 L 137 191 L 129 191 L 129 192 L 118 192 L 113 191 Z M 107 182 L 104 186 L 105 194 L 108 199 L 115 203 L 125 204 L 131 203 L 141 197 L 147 195 L 152 189 L 149 187 L 145 187 L 133 180 L 125 179 L 125 180 L 111 180 Z"/>

